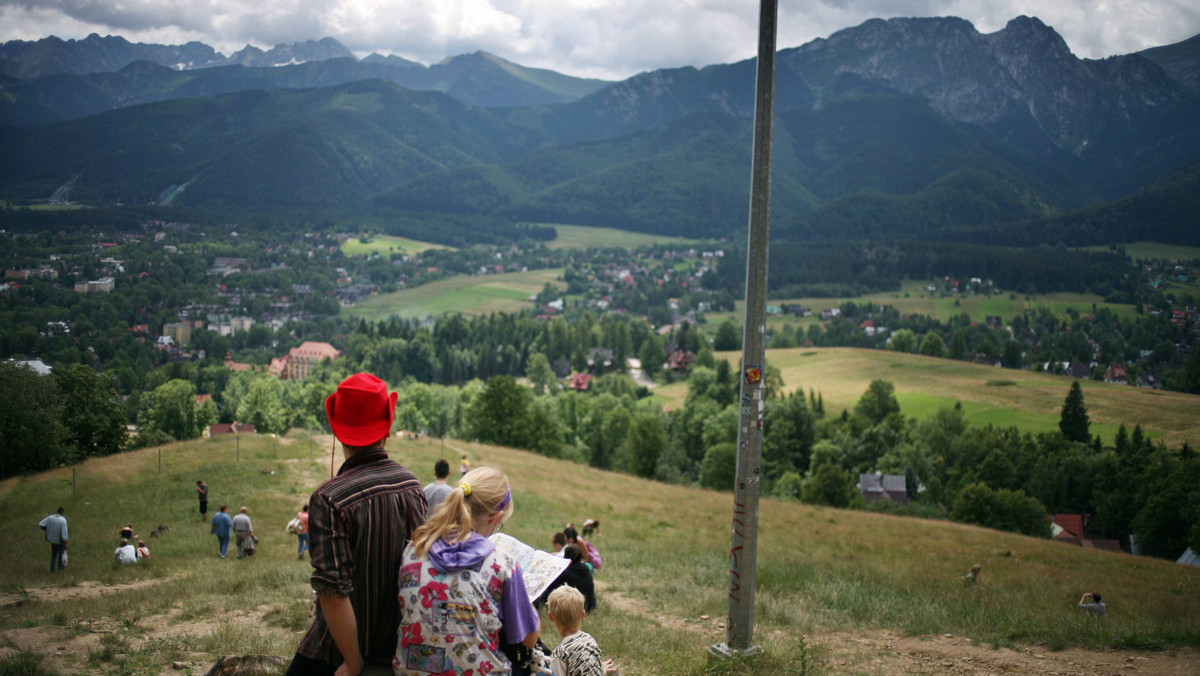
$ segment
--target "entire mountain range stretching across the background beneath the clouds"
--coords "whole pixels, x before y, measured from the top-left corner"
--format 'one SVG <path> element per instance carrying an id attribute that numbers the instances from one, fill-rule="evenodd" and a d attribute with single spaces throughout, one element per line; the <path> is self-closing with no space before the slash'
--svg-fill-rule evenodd
<path id="1" fill-rule="evenodd" d="M 5 44 L 2 72 L 31 68 L 44 42 Z M 216 65 L 192 43 L 115 72 L 10 76 L 0 113 L 23 126 L 0 127 L 0 197 L 74 181 L 72 199 L 92 203 L 186 186 L 176 203 L 745 227 L 754 60 L 602 83 L 484 53 L 425 67 L 305 44 L 331 58 L 299 64 L 316 52 L 294 46 L 259 53 L 292 65 Z M 161 65 L 188 55 L 211 67 Z M 1200 161 L 1198 80 L 1200 36 L 1081 60 L 1030 17 L 989 35 L 956 18 L 874 19 L 780 50 L 773 234 L 1030 232 L 1051 219 L 1062 231 L 1140 191 L 1200 193 L 1200 172 L 1181 171 Z M 1080 209 L 1093 215 L 1064 217 Z M 1190 215 L 1154 227 L 1200 234 Z"/>

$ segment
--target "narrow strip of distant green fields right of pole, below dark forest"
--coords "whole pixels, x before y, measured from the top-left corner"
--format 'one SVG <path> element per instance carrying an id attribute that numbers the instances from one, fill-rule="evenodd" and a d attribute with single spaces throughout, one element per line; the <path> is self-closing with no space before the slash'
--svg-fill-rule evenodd
<path id="1" fill-rule="evenodd" d="M 872 293 L 854 298 L 773 298 L 767 301 L 768 305 L 782 307 L 786 304 L 796 303 L 812 310 L 817 316 L 770 316 L 767 318 L 767 325 L 773 329 L 786 324 L 791 324 L 793 328 L 808 328 L 810 324 L 824 323 L 818 316 L 821 311 L 839 307 L 847 300 L 859 304 L 869 300 L 876 305 L 890 305 L 901 315 L 925 315 L 940 322 L 946 322 L 952 317 L 966 312 L 973 322 L 982 323 L 989 315 L 992 315 L 998 316 L 1007 324 L 1014 316 L 1037 310 L 1038 307 L 1046 307 L 1056 315 L 1066 315 L 1068 309 L 1073 309 L 1081 315 L 1088 315 L 1092 312 L 1093 306 L 1097 309 L 1108 307 L 1120 317 L 1134 317 L 1136 315 L 1133 305 L 1104 303 L 1104 298 L 1090 293 L 1044 293 L 1028 298 L 1022 294 L 1009 293 L 992 295 L 944 294 L 926 291 L 925 287 L 930 283 L 934 283 L 934 281 L 905 280 L 898 292 Z M 721 325 L 726 319 L 732 319 L 736 324 L 742 325 L 742 322 L 745 319 L 745 304 L 739 300 L 733 312 L 709 312 L 706 319 L 709 333 L 715 333 L 716 327 Z"/>

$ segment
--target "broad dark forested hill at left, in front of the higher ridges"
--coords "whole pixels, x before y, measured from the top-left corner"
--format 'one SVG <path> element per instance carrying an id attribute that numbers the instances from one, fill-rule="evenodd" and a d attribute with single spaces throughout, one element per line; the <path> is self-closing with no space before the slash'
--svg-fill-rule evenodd
<path id="1" fill-rule="evenodd" d="M 197 178 L 205 204 L 361 203 L 416 175 L 514 157 L 478 110 L 382 80 L 134 106 L 0 132 L 0 186 L 46 198 L 80 175 L 77 201 L 145 202 Z M 65 177 L 65 178 L 64 178 Z"/>

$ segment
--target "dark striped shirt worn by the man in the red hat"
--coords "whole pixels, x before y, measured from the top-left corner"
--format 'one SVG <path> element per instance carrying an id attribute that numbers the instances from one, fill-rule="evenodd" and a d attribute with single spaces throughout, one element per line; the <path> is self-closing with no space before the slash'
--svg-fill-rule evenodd
<path id="1" fill-rule="evenodd" d="M 359 651 L 367 663 L 391 664 L 400 557 L 424 522 L 421 484 L 383 450 L 347 459 L 308 499 L 312 590 L 350 599 Z M 331 666 L 344 662 L 319 603 L 296 653 Z"/>

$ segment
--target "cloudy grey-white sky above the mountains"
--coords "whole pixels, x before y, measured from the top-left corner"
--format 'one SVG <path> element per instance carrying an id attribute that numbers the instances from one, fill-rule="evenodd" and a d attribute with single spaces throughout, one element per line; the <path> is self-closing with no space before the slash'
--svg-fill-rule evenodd
<path id="1" fill-rule="evenodd" d="M 1076 55 L 1099 59 L 1200 32 L 1198 0 L 779 0 L 780 48 L 870 18 L 962 17 L 994 32 L 1036 16 Z M 246 44 L 336 37 L 359 56 L 431 64 L 482 49 L 526 66 L 623 79 L 754 56 L 758 0 L 0 0 L 0 41 L 121 35 Z"/>

